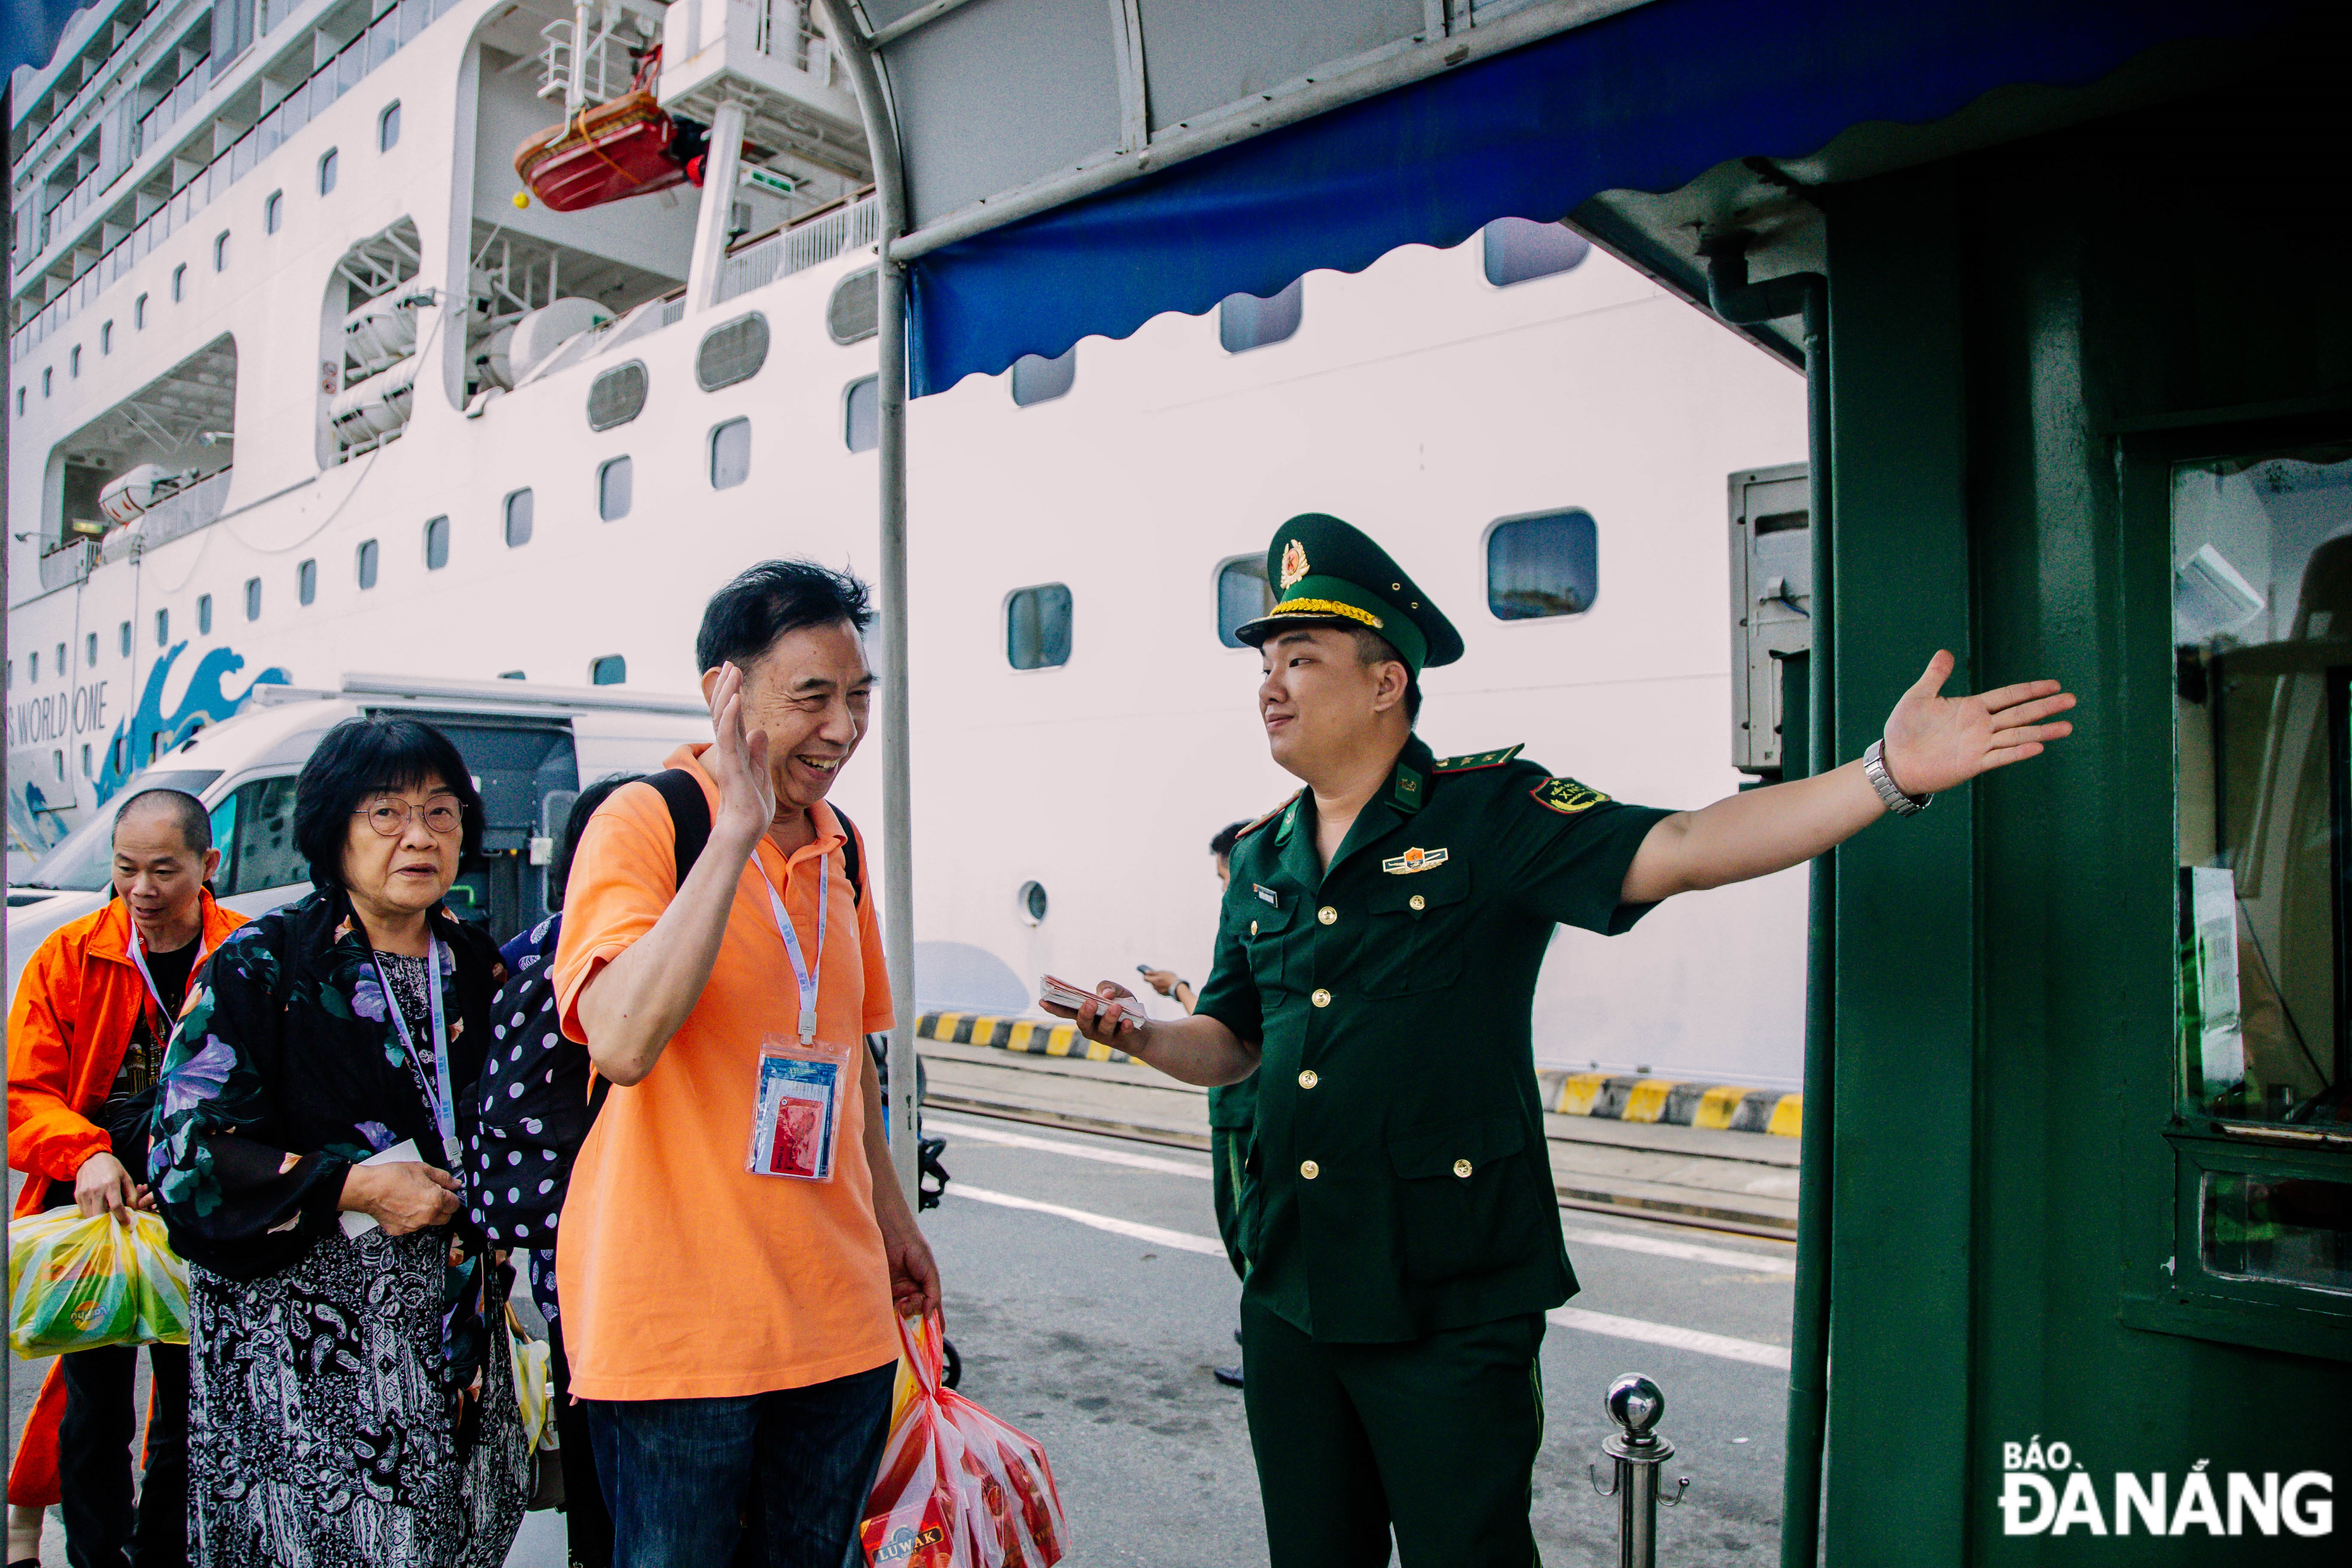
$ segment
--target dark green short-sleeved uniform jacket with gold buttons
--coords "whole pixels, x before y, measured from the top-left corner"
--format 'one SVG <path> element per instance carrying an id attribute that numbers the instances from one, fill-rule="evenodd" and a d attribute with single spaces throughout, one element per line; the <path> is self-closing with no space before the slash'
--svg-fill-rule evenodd
<path id="1" fill-rule="evenodd" d="M 1517 748 L 1444 764 L 1409 741 L 1315 865 L 1301 795 L 1232 849 L 1195 1011 L 1258 1041 L 1240 1194 L 1247 1295 L 1317 1340 L 1414 1340 L 1576 1293 L 1529 1011 L 1555 924 L 1618 933 L 1665 816 Z"/>

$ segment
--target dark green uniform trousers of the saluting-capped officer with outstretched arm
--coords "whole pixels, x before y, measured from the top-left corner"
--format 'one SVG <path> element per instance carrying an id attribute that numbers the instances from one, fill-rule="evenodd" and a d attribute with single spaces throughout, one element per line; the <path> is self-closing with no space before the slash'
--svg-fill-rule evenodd
<path id="1" fill-rule="evenodd" d="M 1242 1298 L 1272 1568 L 1534 1568 L 1543 1314 L 1322 1345 Z"/>

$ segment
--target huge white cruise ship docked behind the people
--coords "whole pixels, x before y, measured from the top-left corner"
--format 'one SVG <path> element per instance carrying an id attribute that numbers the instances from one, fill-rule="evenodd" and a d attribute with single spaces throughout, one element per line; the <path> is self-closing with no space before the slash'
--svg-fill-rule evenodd
<path id="1" fill-rule="evenodd" d="M 113 0 L 12 103 L 21 914 L 52 846 L 256 693 L 659 705 L 748 562 L 875 562 L 877 209 L 809 5 Z M 1294 512 L 1367 527 L 1461 625 L 1439 755 L 1519 743 L 1656 804 L 1771 773 L 1736 642 L 1802 590 L 1733 545 L 1804 522 L 1802 381 L 1541 216 L 913 404 L 884 679 L 924 1006 L 1204 976 L 1207 842 L 1296 788 L 1230 637 Z M 873 766 L 837 797 L 880 825 Z M 1562 931 L 1538 1058 L 1795 1088 L 1802 947 L 1795 872 L 1606 952 Z"/>

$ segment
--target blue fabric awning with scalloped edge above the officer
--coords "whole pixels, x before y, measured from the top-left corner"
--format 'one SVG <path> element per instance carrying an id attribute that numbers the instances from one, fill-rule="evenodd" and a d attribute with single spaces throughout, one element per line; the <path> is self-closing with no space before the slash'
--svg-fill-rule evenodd
<path id="1" fill-rule="evenodd" d="M 920 397 L 1164 310 L 1804 158 L 1853 125 L 1943 120 L 2004 85 L 2086 85 L 2180 40 L 2265 33 L 2293 0 L 1653 0 L 1268 132 L 913 263 Z"/>

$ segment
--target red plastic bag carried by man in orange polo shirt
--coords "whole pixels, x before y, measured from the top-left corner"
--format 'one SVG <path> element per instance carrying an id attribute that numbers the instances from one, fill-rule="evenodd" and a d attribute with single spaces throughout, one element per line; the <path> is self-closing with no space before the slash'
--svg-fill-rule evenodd
<path id="1" fill-rule="evenodd" d="M 1037 1439 L 938 1385 L 938 1314 L 898 1319 L 898 1392 L 866 1500 L 875 1568 L 1051 1568 L 1061 1493 Z"/>

